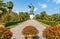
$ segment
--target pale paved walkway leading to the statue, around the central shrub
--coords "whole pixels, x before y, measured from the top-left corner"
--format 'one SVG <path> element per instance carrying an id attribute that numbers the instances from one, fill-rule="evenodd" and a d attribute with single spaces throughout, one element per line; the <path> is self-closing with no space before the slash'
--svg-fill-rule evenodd
<path id="1" fill-rule="evenodd" d="M 22 35 L 22 29 L 25 28 L 28 25 L 32 25 L 35 28 L 38 29 L 39 34 L 38 36 L 40 37 L 39 39 L 44 39 L 42 37 L 42 31 L 45 28 L 44 25 L 40 24 L 38 21 L 36 20 L 28 20 L 26 22 L 23 22 L 22 24 L 16 26 L 15 28 L 12 28 L 11 31 L 13 32 L 13 37 L 15 39 L 24 39 L 24 36 Z"/>

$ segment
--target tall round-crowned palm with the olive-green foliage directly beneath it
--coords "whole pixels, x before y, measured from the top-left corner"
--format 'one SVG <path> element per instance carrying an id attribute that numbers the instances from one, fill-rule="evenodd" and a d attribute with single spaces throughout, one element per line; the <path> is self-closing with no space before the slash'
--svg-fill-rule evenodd
<path id="1" fill-rule="evenodd" d="M 12 17 L 12 9 L 13 9 L 13 3 L 11 1 L 7 2 L 6 7 L 9 9 L 9 11 L 6 12 L 5 14 L 5 22 L 10 22 L 13 17 Z"/>

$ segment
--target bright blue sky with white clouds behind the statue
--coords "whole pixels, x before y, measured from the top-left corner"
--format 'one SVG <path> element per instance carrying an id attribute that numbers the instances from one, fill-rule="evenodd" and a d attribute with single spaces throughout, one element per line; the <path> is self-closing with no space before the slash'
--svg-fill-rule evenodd
<path id="1" fill-rule="evenodd" d="M 34 13 L 38 14 L 46 11 L 47 14 L 59 13 L 60 0 L 5 0 L 4 2 L 12 1 L 14 3 L 14 12 L 29 12 L 28 5 L 32 3 L 35 7 Z"/>

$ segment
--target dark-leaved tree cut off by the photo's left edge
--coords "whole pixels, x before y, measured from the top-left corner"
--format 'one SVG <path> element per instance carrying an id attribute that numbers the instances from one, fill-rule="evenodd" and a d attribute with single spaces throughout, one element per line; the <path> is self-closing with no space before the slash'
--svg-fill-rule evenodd
<path id="1" fill-rule="evenodd" d="M 5 3 L 4 0 L 0 0 L 0 22 L 4 21 L 4 15 L 7 12 L 6 8 L 4 8 Z"/>

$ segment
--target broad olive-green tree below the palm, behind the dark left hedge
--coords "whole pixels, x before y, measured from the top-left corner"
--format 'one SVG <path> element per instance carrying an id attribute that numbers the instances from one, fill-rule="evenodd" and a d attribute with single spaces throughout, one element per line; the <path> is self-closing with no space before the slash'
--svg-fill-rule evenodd
<path id="1" fill-rule="evenodd" d="M 15 13 L 15 12 L 11 12 L 8 14 L 5 15 L 5 22 L 14 22 L 14 21 L 18 21 L 19 18 L 18 18 L 18 14 Z"/>

